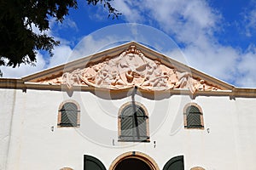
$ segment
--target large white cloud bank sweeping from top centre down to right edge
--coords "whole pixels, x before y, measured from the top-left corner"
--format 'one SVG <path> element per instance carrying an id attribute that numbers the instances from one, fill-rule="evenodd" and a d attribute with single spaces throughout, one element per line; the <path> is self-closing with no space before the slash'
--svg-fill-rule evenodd
<path id="1" fill-rule="evenodd" d="M 183 44 L 183 54 L 188 61 L 185 64 L 226 82 L 236 82 L 236 85 L 242 87 L 256 87 L 256 78 L 253 75 L 255 53 L 252 49 L 241 52 L 240 49 L 222 45 L 218 37 L 214 37 L 216 31 L 223 29 L 224 19 L 208 1 L 142 0 L 139 1 L 140 6 L 133 5 L 137 1 L 124 2 L 125 5 L 115 3 L 115 7 L 125 7 L 125 14 L 137 11 L 134 13 L 136 18 L 143 14 L 140 17 L 145 18 L 140 20 L 149 20 L 149 24 L 154 23 L 154 26 L 174 37 L 177 44 Z M 132 17 L 127 16 L 127 20 L 136 21 Z M 256 10 L 251 11 L 247 19 L 249 35 L 252 28 L 256 28 Z"/>

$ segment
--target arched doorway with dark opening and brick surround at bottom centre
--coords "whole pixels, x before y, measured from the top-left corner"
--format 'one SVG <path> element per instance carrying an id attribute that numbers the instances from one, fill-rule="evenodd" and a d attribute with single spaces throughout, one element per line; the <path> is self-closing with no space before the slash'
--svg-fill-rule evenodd
<path id="1" fill-rule="evenodd" d="M 156 162 L 150 156 L 138 151 L 126 152 L 118 156 L 109 167 L 109 170 L 128 169 L 160 170 Z"/>

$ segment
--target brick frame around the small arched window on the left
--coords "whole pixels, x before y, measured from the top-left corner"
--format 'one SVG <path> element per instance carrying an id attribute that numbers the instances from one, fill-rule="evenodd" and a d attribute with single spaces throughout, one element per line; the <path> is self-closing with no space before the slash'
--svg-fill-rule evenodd
<path id="1" fill-rule="evenodd" d="M 62 110 L 63 106 L 65 104 L 67 104 L 67 103 L 72 103 L 73 105 L 77 106 L 78 112 L 77 112 L 77 123 L 76 123 L 76 126 L 61 126 L 61 116 L 62 116 L 61 110 Z M 79 106 L 78 102 L 76 102 L 73 99 L 67 99 L 67 100 L 61 102 L 61 105 L 59 106 L 59 109 L 58 109 L 57 127 L 61 127 L 61 128 L 63 128 L 63 127 L 80 127 L 80 106 Z"/>

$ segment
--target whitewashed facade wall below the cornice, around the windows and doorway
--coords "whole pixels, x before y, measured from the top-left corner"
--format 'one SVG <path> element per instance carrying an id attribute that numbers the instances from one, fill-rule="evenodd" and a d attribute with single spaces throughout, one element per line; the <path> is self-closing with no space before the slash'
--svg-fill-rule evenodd
<path id="1" fill-rule="evenodd" d="M 148 109 L 150 129 L 150 143 L 138 144 L 118 142 L 119 107 L 131 97 L 110 100 L 89 92 L 68 97 L 56 91 L 9 89 L 1 89 L 0 95 L 0 169 L 79 170 L 84 155 L 95 156 L 108 169 L 128 151 L 151 156 L 160 169 L 181 155 L 186 170 L 256 169 L 256 99 L 166 95 L 153 100 L 137 95 L 136 101 Z M 81 107 L 78 128 L 56 126 L 59 105 L 66 99 Z M 204 130 L 183 128 L 183 106 L 189 102 L 201 105 Z"/>

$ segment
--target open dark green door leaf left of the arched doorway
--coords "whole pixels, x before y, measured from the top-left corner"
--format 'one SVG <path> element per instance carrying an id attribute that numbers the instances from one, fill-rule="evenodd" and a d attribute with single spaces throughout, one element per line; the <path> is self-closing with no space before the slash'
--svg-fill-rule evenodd
<path id="1" fill-rule="evenodd" d="M 106 167 L 96 157 L 84 156 L 84 170 L 106 170 Z"/>

